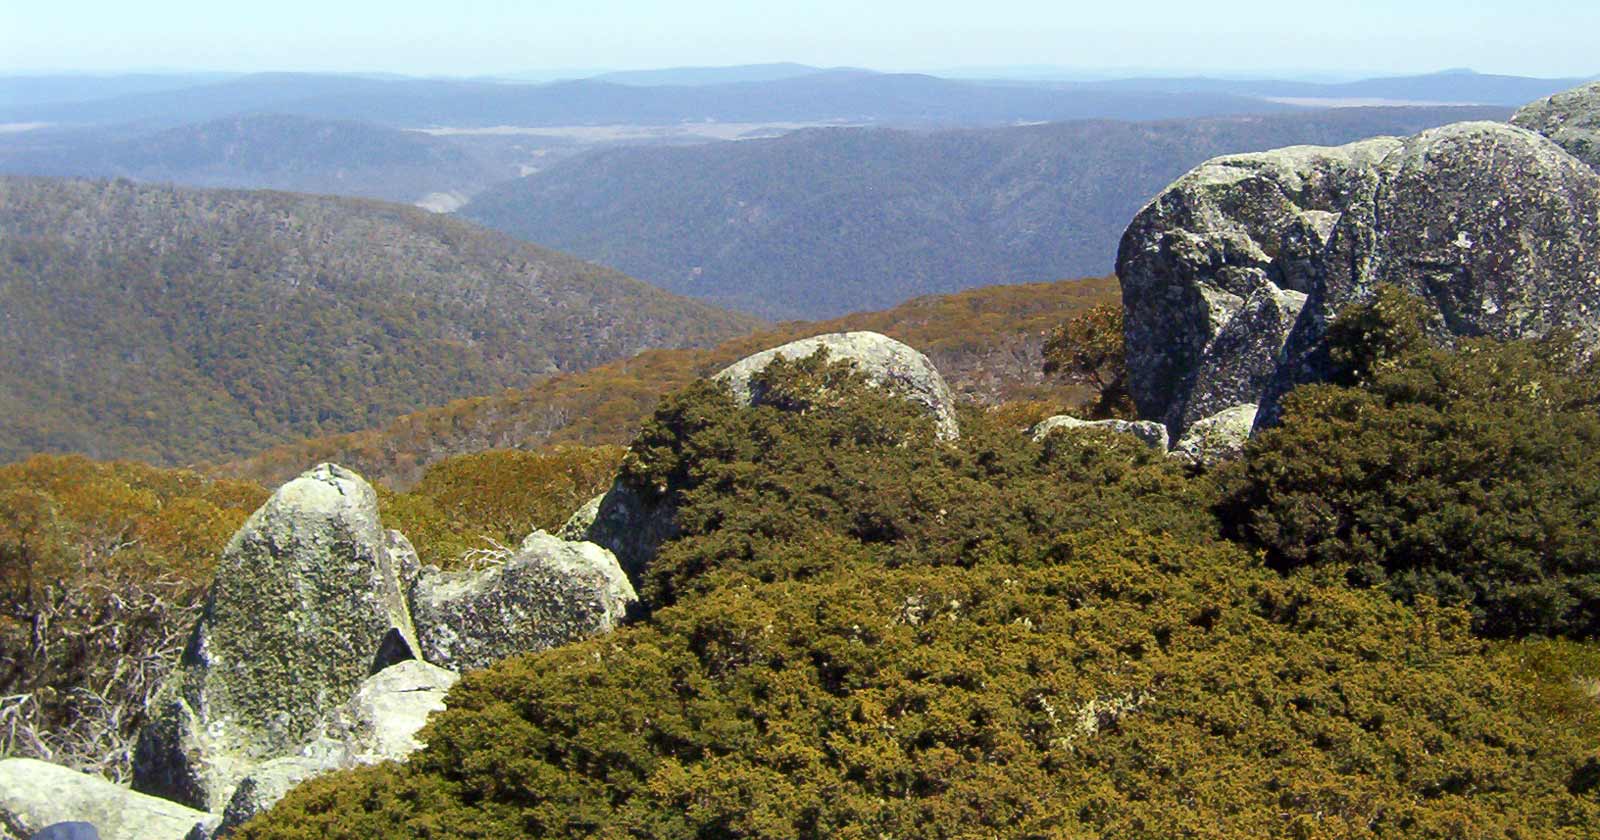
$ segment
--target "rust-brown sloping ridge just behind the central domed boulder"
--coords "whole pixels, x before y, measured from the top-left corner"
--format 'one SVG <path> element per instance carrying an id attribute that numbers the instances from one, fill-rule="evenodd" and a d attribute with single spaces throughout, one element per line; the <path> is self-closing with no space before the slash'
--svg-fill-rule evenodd
<path id="1" fill-rule="evenodd" d="M 1086 392 L 1040 373 L 1046 333 L 1074 312 L 1117 301 L 1117 280 L 992 286 L 930 296 L 885 312 L 821 323 L 782 323 L 706 350 L 650 350 L 598 368 L 554 376 L 526 389 L 456 400 L 381 429 L 275 446 L 214 472 L 278 483 L 309 464 L 338 461 L 363 475 L 408 486 L 443 458 L 491 448 L 621 443 L 634 438 L 662 394 L 766 347 L 798 338 L 872 330 L 928 354 L 958 397 L 971 403 L 1043 400 L 1072 405 Z"/>

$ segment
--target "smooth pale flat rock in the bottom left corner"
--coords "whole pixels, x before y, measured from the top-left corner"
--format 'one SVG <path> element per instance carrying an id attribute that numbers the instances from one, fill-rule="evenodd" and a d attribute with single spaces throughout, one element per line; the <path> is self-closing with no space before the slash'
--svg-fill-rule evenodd
<path id="1" fill-rule="evenodd" d="M 0 760 L 0 835 L 88 822 L 102 840 L 181 840 L 211 814 L 34 758 Z"/>

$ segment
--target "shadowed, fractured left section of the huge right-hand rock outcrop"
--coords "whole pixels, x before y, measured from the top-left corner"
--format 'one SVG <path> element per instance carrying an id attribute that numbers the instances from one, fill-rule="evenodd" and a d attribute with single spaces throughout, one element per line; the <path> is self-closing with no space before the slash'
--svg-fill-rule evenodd
<path id="1" fill-rule="evenodd" d="M 1376 192 L 1376 163 L 1400 146 L 1379 138 L 1216 158 L 1139 211 L 1123 234 L 1117 274 L 1128 387 L 1141 416 L 1176 434 L 1186 416 L 1203 416 L 1190 402 L 1256 402 L 1242 382 L 1266 387 L 1288 333 L 1272 315 L 1302 306 L 1285 293 L 1317 288 L 1338 219 Z M 1270 330 L 1229 331 L 1242 312 Z M 1194 400 L 1202 378 L 1218 390 Z"/>

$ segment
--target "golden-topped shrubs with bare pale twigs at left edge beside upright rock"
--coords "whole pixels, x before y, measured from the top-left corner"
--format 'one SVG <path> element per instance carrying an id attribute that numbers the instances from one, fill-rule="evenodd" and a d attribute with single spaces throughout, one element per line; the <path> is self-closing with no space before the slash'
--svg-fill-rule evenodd
<path id="1" fill-rule="evenodd" d="M 262 501 L 144 464 L 0 467 L 0 755 L 123 776 L 218 552 Z"/>

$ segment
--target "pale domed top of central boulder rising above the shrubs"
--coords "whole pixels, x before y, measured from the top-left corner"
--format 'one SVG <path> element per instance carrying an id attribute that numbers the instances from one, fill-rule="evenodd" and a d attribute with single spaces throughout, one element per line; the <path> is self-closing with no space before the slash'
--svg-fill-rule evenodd
<path id="1" fill-rule="evenodd" d="M 962 437 L 955 419 L 955 397 L 933 362 L 906 344 L 878 333 L 832 333 L 790 341 L 781 347 L 741 358 L 717 373 L 714 379 L 726 382 L 741 405 L 754 405 L 762 400 L 762 395 L 750 387 L 750 379 L 757 373 L 766 370 L 774 358 L 805 358 L 819 349 L 827 349 L 830 360 L 853 362 L 869 382 L 886 387 L 922 406 L 933 418 L 941 438 Z"/>

